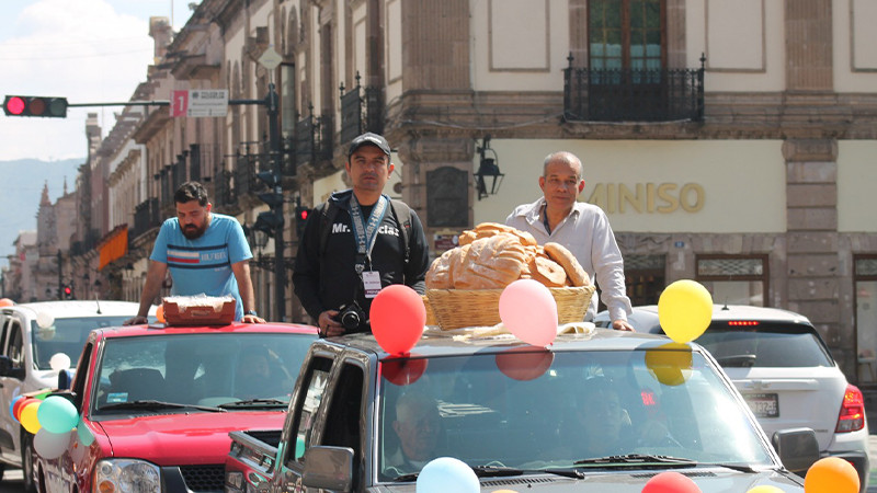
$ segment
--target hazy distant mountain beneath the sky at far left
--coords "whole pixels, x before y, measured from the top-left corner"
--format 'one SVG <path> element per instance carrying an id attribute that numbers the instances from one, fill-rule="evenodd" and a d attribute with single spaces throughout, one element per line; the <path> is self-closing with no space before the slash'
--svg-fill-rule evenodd
<path id="1" fill-rule="evenodd" d="M 7 255 L 15 253 L 13 242 L 19 231 L 36 230 L 36 213 L 43 186 L 54 204 L 67 191 L 76 188 L 76 176 L 86 158 L 64 161 L 19 159 L 0 161 L 0 267 L 9 265 Z"/>

